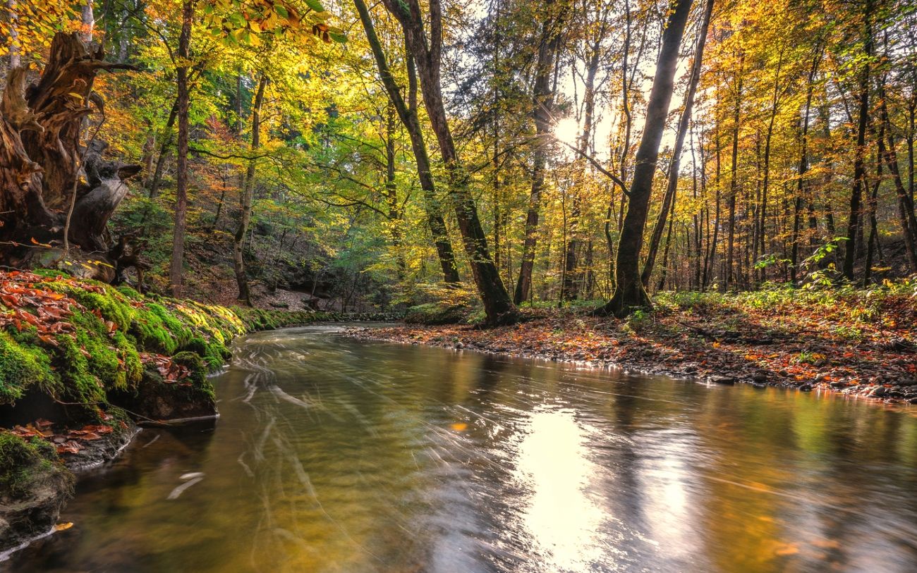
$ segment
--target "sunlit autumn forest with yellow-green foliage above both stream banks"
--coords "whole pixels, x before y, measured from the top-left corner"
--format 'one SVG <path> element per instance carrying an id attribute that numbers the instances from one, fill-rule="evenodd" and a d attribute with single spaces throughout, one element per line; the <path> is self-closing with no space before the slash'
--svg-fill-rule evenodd
<path id="1" fill-rule="evenodd" d="M 854 4 L 13 2 L 3 258 L 494 324 L 900 279 L 917 16 Z"/>

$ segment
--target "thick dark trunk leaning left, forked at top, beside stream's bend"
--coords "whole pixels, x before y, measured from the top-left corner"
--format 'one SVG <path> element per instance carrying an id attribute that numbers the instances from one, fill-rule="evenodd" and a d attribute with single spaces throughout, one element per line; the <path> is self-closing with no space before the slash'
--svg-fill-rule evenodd
<path id="1" fill-rule="evenodd" d="M 478 217 L 478 208 L 469 189 L 469 174 L 458 158 L 455 141 L 449 129 L 446 106 L 443 103 L 440 83 L 442 57 L 442 6 L 439 0 L 430 0 L 429 30 L 425 33 L 425 17 L 419 0 L 384 0 L 385 7 L 398 19 L 404 31 L 407 45 L 414 56 L 420 87 L 424 94 L 426 114 L 436 133 L 439 150 L 446 165 L 449 196 L 455 207 L 458 229 L 462 235 L 465 252 L 468 254 L 471 273 L 474 276 L 487 321 L 491 325 L 508 324 L 517 320 L 516 309 L 509 293 L 503 287 L 500 273 L 493 264 L 487 248 L 487 237 Z"/>

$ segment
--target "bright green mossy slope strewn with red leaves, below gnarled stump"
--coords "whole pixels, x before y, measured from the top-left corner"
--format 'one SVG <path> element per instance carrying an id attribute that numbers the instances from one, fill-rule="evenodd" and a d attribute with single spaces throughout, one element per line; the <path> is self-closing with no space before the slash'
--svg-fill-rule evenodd
<path id="1" fill-rule="evenodd" d="M 38 388 L 89 413 L 106 409 L 109 392 L 136 392 L 149 356 L 183 357 L 186 382 L 212 395 L 204 375 L 229 358 L 235 336 L 326 319 L 144 296 L 48 271 L 0 273 L 0 292 L 0 404 Z"/>

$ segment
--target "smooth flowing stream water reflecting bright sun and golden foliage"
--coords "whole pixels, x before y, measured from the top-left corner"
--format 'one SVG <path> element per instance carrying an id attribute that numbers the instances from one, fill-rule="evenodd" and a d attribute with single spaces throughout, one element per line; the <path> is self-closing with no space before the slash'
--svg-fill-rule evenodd
<path id="1" fill-rule="evenodd" d="M 248 336 L 10 571 L 917 570 L 917 408 Z"/>

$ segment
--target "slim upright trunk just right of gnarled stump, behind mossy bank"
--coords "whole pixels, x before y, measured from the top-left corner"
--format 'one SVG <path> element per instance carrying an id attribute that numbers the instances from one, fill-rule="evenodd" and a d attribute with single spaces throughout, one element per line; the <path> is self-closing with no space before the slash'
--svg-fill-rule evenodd
<path id="1" fill-rule="evenodd" d="M 185 220 L 188 215 L 188 61 L 191 58 L 191 24 L 194 17 L 193 0 L 182 2 L 182 33 L 178 38 L 178 174 L 175 186 L 175 225 L 172 231 L 169 290 L 182 296 L 184 269 Z"/>

